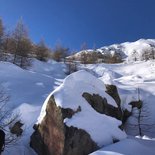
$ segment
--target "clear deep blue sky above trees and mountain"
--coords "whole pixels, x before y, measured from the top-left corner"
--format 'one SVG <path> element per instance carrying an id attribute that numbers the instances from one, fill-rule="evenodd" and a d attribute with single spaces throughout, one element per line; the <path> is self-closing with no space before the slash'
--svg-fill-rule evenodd
<path id="1" fill-rule="evenodd" d="M 10 29 L 22 16 L 32 40 L 51 47 L 155 38 L 155 0 L 0 0 L 0 16 Z"/>

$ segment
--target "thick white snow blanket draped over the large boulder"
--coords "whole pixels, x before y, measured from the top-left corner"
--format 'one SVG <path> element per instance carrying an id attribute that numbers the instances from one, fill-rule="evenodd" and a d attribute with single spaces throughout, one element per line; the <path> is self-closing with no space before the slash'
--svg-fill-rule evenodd
<path id="1" fill-rule="evenodd" d="M 99 114 L 82 97 L 84 92 L 99 94 L 106 98 L 108 103 L 117 107 L 115 101 L 105 93 L 104 83 L 90 73 L 81 70 L 69 75 L 63 84 L 53 91 L 46 99 L 41 110 L 38 123 L 46 115 L 46 105 L 51 95 L 54 95 L 57 106 L 77 110 L 81 107 L 81 112 L 76 113 L 71 119 L 65 119 L 67 126 L 74 126 L 87 131 L 98 146 L 107 145 L 113 139 L 124 139 L 126 134 L 119 129 L 121 122 L 115 118 Z M 104 132 L 103 132 L 104 131 Z"/>

